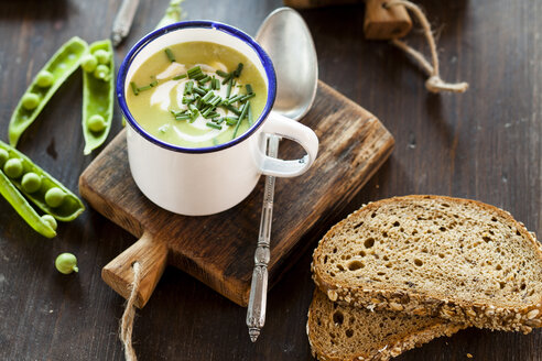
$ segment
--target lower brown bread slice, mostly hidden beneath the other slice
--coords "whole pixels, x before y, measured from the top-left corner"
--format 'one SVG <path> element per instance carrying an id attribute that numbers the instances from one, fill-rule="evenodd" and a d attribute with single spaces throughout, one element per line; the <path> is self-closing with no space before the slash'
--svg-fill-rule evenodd
<path id="1" fill-rule="evenodd" d="M 388 360 L 462 328 L 436 317 L 338 305 L 319 291 L 306 324 L 311 350 L 321 361 Z"/>

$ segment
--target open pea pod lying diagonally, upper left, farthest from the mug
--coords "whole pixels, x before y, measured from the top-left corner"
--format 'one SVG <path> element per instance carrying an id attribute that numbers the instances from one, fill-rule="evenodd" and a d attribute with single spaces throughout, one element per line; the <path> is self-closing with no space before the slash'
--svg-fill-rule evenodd
<path id="1" fill-rule="evenodd" d="M 32 124 L 68 76 L 79 67 L 80 58 L 87 47 L 84 40 L 77 36 L 72 37 L 37 73 L 11 116 L 8 130 L 11 145 L 17 146 L 24 130 Z"/>

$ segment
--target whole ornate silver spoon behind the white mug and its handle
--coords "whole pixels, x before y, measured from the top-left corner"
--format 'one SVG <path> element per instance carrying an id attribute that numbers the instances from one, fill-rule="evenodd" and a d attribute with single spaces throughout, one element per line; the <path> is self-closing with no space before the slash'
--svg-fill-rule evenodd
<path id="1" fill-rule="evenodd" d="M 295 10 L 279 8 L 265 18 L 256 40 L 271 56 L 277 73 L 273 111 L 300 120 L 311 109 L 318 86 L 316 50 L 308 28 Z M 279 141 L 278 135 L 269 136 L 269 156 L 278 156 Z M 274 177 L 267 176 L 247 309 L 247 326 L 252 342 L 256 342 L 265 322 L 273 197 Z"/>

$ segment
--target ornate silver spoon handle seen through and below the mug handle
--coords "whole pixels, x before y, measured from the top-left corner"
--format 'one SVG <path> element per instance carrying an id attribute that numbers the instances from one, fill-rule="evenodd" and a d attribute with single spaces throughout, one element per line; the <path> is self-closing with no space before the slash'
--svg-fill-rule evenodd
<path id="1" fill-rule="evenodd" d="M 277 157 L 279 153 L 277 135 L 270 135 L 268 155 Z M 271 241 L 271 223 L 273 221 L 274 177 L 268 175 L 263 189 L 263 206 L 261 210 L 260 233 L 258 248 L 254 253 L 254 270 L 250 285 L 250 298 L 247 309 L 247 326 L 252 342 L 256 342 L 265 324 L 265 305 L 268 298 L 268 263 L 270 259 L 269 244 Z"/>

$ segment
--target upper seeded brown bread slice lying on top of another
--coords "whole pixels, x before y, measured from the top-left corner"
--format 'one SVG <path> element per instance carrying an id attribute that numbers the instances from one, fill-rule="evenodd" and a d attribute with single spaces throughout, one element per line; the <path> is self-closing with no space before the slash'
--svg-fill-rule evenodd
<path id="1" fill-rule="evenodd" d="M 405 196 L 333 227 L 313 255 L 332 300 L 476 327 L 542 325 L 542 250 L 509 212 L 468 199 Z"/>

